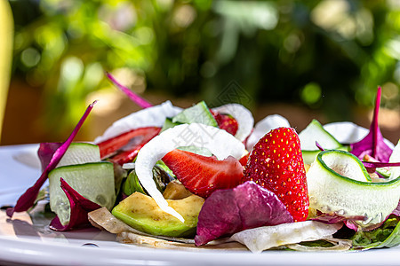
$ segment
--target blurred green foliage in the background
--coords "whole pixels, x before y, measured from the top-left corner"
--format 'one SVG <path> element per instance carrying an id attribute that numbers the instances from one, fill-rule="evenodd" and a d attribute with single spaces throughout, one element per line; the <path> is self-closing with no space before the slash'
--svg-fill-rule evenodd
<path id="1" fill-rule="evenodd" d="M 132 90 L 218 104 L 284 101 L 330 120 L 400 103 L 400 3 L 388 1 L 12 0 L 14 75 L 44 88 L 45 112 L 76 122 L 110 71 Z M 222 101 L 222 100 L 220 100 Z M 62 103 L 62 104 L 60 104 Z"/>

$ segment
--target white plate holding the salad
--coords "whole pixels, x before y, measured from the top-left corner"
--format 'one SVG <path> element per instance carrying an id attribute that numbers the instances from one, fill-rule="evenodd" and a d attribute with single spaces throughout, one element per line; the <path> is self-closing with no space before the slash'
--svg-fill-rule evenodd
<path id="1" fill-rule="evenodd" d="M 14 204 L 40 175 L 37 163 L 25 161 L 37 145 L 0 146 L 0 205 Z M 21 155 L 22 154 L 22 155 Z M 29 155 L 31 154 L 31 155 Z M 0 264 L 36 265 L 392 265 L 400 248 L 364 252 L 303 253 L 266 251 L 169 250 L 124 245 L 114 235 L 96 229 L 55 232 L 47 219 L 32 221 L 26 213 L 9 219 L 0 211 Z M 95 244 L 87 246 L 84 244 Z"/>

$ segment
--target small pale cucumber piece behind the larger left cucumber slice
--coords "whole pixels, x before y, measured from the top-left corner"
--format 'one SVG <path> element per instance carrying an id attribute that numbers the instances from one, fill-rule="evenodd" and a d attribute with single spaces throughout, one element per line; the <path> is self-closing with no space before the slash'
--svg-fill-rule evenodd
<path id="1" fill-rule="evenodd" d="M 69 145 L 67 152 L 62 156 L 57 167 L 96 161 L 100 161 L 99 146 L 78 142 Z"/>

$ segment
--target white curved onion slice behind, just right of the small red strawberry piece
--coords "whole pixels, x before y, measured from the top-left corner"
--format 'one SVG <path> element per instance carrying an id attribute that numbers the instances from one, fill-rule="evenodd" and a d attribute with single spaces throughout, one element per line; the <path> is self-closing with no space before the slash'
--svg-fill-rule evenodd
<path id="1" fill-rule="evenodd" d="M 252 117 L 252 112 L 250 112 L 246 107 L 239 104 L 228 104 L 225 106 L 220 106 L 212 108 L 212 111 L 217 113 L 224 113 L 232 115 L 238 124 L 238 129 L 235 137 L 244 141 L 246 137 L 249 137 L 252 133 L 252 127 L 254 126 L 254 118 Z"/>

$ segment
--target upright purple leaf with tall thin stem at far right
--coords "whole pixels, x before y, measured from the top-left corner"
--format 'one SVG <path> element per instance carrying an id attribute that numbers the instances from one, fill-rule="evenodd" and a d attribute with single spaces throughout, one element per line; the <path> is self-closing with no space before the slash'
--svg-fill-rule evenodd
<path id="1" fill-rule="evenodd" d="M 370 132 L 362 140 L 351 144 L 351 153 L 363 160 L 365 155 L 370 155 L 376 160 L 388 162 L 392 149 L 383 141 L 382 133 L 378 124 L 378 114 L 380 111 L 380 87 L 378 88 L 375 109 L 373 112 Z"/>

